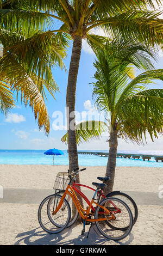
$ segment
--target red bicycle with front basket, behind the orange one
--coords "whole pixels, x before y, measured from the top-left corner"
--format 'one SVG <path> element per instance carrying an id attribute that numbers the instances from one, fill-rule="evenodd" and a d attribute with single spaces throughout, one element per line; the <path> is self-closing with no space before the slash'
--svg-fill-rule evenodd
<path id="1" fill-rule="evenodd" d="M 80 171 L 82 170 L 85 170 L 86 168 L 84 169 L 81 169 Z M 79 168 L 76 168 L 73 170 L 73 172 L 78 172 Z M 55 194 L 60 194 L 62 195 L 64 192 L 65 192 L 65 187 L 67 185 L 67 178 L 66 176 L 68 177 L 68 174 L 69 174 L 69 170 L 68 170 L 68 173 L 65 173 L 65 172 L 60 172 L 58 173 L 57 175 L 57 178 L 55 180 L 55 184 L 54 184 L 54 190 L 55 190 Z M 105 186 L 105 182 L 108 181 L 110 179 L 110 177 L 97 177 L 98 180 L 101 180 L 103 183 L 104 183 L 104 186 Z M 98 183 L 96 182 L 92 182 L 92 185 L 98 185 Z M 95 188 L 92 188 L 90 186 L 87 186 L 87 185 L 84 185 L 84 184 L 79 184 L 79 183 L 76 183 L 76 182 L 73 182 L 72 184 L 72 188 L 73 190 L 76 192 L 76 195 L 78 197 L 78 195 L 80 195 L 80 197 L 82 197 L 84 199 L 84 201 L 86 202 L 87 205 L 90 205 L 90 200 L 85 196 L 85 194 L 79 190 L 79 187 L 84 187 L 84 188 L 88 188 L 89 190 L 95 192 L 96 189 Z M 58 192 L 57 192 L 58 191 Z M 135 201 L 133 200 L 133 198 L 131 198 L 128 194 L 126 193 L 123 193 L 121 191 L 112 191 L 110 193 L 108 193 L 106 196 L 104 196 L 103 194 L 103 189 L 99 190 L 97 192 L 97 200 L 98 202 L 101 202 L 101 200 L 105 199 L 105 198 L 108 198 L 108 197 L 116 197 L 118 199 L 121 199 L 124 203 L 126 203 L 130 210 L 131 210 L 131 213 L 133 214 L 133 224 L 135 224 L 136 220 L 137 220 L 137 216 L 138 216 L 138 210 L 137 210 L 137 205 L 135 203 Z M 77 208 L 76 206 L 74 205 L 72 199 L 70 196 L 67 196 L 66 197 L 68 203 L 71 205 L 71 210 L 72 210 L 72 214 L 71 214 L 71 220 L 70 222 L 68 223 L 67 227 L 70 227 L 71 225 L 73 225 L 77 219 L 78 219 L 78 216 L 79 216 L 79 212 L 77 211 Z M 52 199 L 49 200 L 48 202 L 48 205 L 47 205 L 47 214 L 48 214 L 48 209 L 50 208 L 50 205 L 52 203 Z M 91 206 L 91 212 L 92 214 L 94 214 L 96 211 L 96 207 L 94 207 L 93 205 Z M 48 215 L 49 217 L 49 220 L 51 221 L 51 216 Z M 89 216 L 91 218 L 91 216 Z M 86 224 L 90 224 L 90 222 L 86 223 Z M 110 226 L 110 228 L 112 229 L 117 229 L 117 227 L 114 227 L 111 222 L 108 222 L 108 225 Z M 127 229 L 128 227 L 125 227 L 123 228 L 123 230 Z"/>

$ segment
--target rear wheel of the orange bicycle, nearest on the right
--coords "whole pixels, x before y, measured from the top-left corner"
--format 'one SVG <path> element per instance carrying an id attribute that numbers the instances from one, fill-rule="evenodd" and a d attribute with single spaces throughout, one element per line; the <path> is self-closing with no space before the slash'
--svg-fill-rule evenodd
<path id="1" fill-rule="evenodd" d="M 124 239 L 133 227 L 133 215 L 128 205 L 122 200 L 114 197 L 104 199 L 100 205 L 108 209 L 110 214 L 106 213 L 100 206 L 97 207 L 95 211 L 95 219 L 108 218 L 106 221 L 96 221 L 96 227 L 99 232 L 107 239 L 115 241 Z M 115 220 L 109 220 L 111 215 L 114 215 Z M 108 225 L 108 222 L 114 229 Z"/>

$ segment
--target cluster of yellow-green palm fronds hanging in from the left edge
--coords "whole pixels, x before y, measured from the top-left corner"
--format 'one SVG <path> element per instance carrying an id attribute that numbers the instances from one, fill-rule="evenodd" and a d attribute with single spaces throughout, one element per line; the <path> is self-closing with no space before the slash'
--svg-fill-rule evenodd
<path id="1" fill-rule="evenodd" d="M 48 135 L 50 124 L 45 104 L 45 89 L 53 97 L 58 86 L 52 75 L 52 67 L 64 68 L 67 42 L 60 44 L 51 32 L 31 32 L 28 36 L 1 31 L 3 51 L 0 56 L 0 107 L 5 115 L 15 107 L 13 93 L 34 111 L 39 128 Z"/>

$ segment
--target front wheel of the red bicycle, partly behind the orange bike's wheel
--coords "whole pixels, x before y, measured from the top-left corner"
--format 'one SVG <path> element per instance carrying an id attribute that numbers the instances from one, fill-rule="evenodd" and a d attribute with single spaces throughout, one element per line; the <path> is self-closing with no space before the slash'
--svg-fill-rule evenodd
<path id="1" fill-rule="evenodd" d="M 56 193 L 56 195 L 59 194 L 60 196 L 62 196 L 64 194 L 64 192 L 65 191 L 59 191 L 58 193 Z M 71 218 L 70 218 L 70 221 L 67 225 L 67 228 L 69 228 L 69 227 L 71 227 L 71 225 L 73 225 L 77 221 L 78 216 L 79 216 L 79 212 L 78 212 L 76 206 L 74 205 L 72 198 L 68 194 L 66 194 L 66 200 L 70 204 L 70 208 L 71 208 Z M 53 203 L 54 203 L 54 198 L 49 199 L 49 202 L 47 204 L 47 215 L 49 217 L 49 220 L 54 225 L 57 225 L 58 227 L 60 227 L 60 224 L 57 223 L 56 220 L 55 221 L 53 220 L 52 211 L 49 210 L 53 206 Z M 62 205 L 62 215 L 64 215 L 64 212 L 65 212 L 64 209 L 65 209 L 65 205 Z M 65 214 L 66 214 L 66 212 L 65 212 Z"/>

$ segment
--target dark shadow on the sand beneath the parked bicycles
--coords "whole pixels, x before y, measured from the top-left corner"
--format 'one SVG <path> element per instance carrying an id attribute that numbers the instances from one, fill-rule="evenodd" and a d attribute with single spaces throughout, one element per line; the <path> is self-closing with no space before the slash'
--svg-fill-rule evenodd
<path id="1" fill-rule="evenodd" d="M 82 225 L 80 225 L 81 227 Z M 75 228 L 75 233 L 73 231 L 74 227 L 71 227 L 64 229 L 58 234 L 48 234 L 38 227 L 17 234 L 16 239 L 18 240 L 15 242 L 15 245 L 129 245 L 134 239 L 133 234 L 130 233 L 126 239 L 121 241 L 108 240 L 99 233 L 95 224 L 90 230 L 89 237 L 86 238 L 87 231 L 84 235 L 79 235 L 82 229 L 78 228 L 79 231 L 77 231 L 77 227 Z M 76 238 L 74 238 L 74 234 L 77 234 Z"/>

